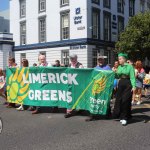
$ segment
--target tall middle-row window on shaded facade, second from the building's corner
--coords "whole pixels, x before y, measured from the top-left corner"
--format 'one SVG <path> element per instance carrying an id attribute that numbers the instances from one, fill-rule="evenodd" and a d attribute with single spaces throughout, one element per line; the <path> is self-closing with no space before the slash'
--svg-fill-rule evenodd
<path id="1" fill-rule="evenodd" d="M 104 40 L 111 41 L 111 14 L 104 12 Z"/>

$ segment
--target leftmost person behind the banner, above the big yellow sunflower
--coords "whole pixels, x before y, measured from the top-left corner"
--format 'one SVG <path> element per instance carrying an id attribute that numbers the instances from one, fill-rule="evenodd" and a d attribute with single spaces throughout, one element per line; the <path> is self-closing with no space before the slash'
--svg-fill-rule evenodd
<path id="1" fill-rule="evenodd" d="M 15 62 L 15 58 L 13 58 L 13 57 L 9 57 L 9 59 L 8 59 L 8 67 L 9 68 L 16 68 L 17 67 L 17 64 L 16 64 L 16 62 Z M 7 108 L 15 108 L 16 107 L 16 105 L 15 105 L 15 103 L 8 103 L 8 105 L 6 106 Z"/>

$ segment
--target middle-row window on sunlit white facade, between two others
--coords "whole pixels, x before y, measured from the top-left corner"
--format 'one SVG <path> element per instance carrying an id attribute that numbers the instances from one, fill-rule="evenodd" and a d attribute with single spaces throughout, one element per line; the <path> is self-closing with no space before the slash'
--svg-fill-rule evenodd
<path id="1" fill-rule="evenodd" d="M 39 42 L 46 42 L 46 17 L 39 18 Z"/>

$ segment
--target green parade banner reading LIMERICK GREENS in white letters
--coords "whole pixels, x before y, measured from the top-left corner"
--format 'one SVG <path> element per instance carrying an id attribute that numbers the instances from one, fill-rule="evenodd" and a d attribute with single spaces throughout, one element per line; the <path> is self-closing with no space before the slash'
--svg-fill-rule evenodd
<path id="1" fill-rule="evenodd" d="M 114 82 L 112 71 L 54 67 L 7 69 L 7 99 L 30 106 L 58 106 L 107 113 Z"/>

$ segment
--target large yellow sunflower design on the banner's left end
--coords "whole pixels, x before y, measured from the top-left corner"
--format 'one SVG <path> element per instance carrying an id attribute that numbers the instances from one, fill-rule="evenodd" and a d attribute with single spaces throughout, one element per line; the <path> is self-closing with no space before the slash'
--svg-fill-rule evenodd
<path id="1" fill-rule="evenodd" d="M 23 75 L 25 75 L 25 79 L 27 80 L 29 76 L 29 69 L 17 68 L 15 73 L 8 78 L 7 99 L 11 103 L 22 104 L 23 100 L 28 96 L 29 83 L 24 83 Z"/>

